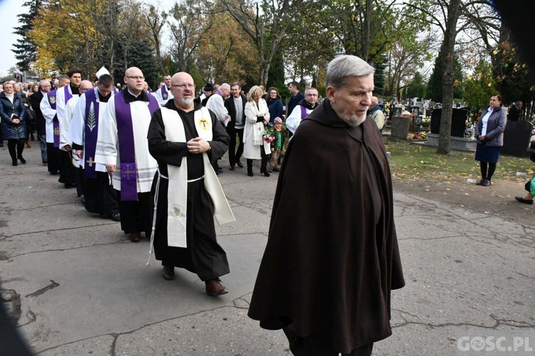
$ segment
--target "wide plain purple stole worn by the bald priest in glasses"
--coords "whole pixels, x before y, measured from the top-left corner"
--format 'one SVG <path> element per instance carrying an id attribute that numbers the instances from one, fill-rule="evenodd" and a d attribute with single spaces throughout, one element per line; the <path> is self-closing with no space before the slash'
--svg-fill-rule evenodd
<path id="1" fill-rule="evenodd" d="M 138 201 L 138 173 L 136 169 L 136 149 L 133 138 L 132 112 L 121 90 L 115 95 L 115 114 L 119 136 L 119 161 L 121 162 L 121 201 Z M 143 102 L 146 103 L 146 102 Z M 148 95 L 148 110 L 155 112 L 160 106 L 158 100 Z"/>

